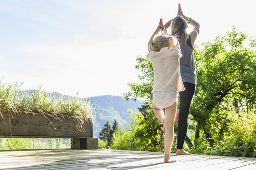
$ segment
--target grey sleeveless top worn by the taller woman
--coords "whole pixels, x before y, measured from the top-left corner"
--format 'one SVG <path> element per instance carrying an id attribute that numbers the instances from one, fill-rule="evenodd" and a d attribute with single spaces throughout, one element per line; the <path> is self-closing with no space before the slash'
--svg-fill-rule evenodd
<path id="1" fill-rule="evenodd" d="M 194 48 L 191 45 L 190 35 L 187 43 L 183 43 L 184 35 L 179 40 L 182 58 L 180 58 L 180 69 L 183 82 L 197 83 L 196 64 L 193 55 Z"/>

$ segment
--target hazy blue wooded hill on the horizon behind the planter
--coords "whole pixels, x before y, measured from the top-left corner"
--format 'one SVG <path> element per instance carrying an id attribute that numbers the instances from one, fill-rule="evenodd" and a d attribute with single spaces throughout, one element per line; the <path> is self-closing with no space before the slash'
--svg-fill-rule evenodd
<path id="1" fill-rule="evenodd" d="M 28 93 L 28 91 L 23 92 Z M 56 98 L 59 98 L 62 95 L 63 94 L 57 92 L 53 92 L 51 94 L 51 96 Z M 72 98 L 72 96 L 68 97 Z M 138 111 L 138 108 L 144 104 L 144 102 L 138 100 L 136 102 L 130 100 L 126 102 L 122 96 L 112 95 L 95 96 L 81 99 L 87 100 L 94 107 L 93 135 L 95 137 L 98 137 L 99 132 L 107 121 L 109 121 L 109 123 L 112 125 L 114 119 L 116 119 L 120 126 L 124 127 L 130 117 L 127 109 Z"/>

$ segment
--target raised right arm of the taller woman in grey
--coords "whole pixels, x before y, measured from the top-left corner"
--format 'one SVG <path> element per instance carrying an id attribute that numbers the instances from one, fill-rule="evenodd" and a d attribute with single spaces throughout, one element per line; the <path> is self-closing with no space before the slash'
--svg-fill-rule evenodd
<path id="1" fill-rule="evenodd" d="M 194 26 L 194 30 L 191 31 L 190 34 L 190 38 L 191 38 L 191 44 L 192 46 L 194 46 L 194 43 L 196 41 L 196 38 L 199 34 L 199 29 L 200 29 L 200 25 L 198 22 L 196 22 L 195 20 L 188 18 L 186 16 L 184 16 L 182 9 L 181 9 L 181 4 L 178 4 L 178 15 L 182 16 L 184 18 L 184 20 L 186 20 L 188 23 L 190 23 L 191 25 Z"/>

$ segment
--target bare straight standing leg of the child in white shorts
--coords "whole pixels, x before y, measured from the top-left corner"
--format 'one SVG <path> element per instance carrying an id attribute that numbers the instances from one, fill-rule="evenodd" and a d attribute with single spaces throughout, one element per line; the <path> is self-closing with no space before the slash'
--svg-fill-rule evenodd
<path id="1" fill-rule="evenodd" d="M 172 148 L 173 138 L 174 138 L 174 120 L 176 116 L 177 102 L 175 101 L 173 105 L 165 108 L 165 135 L 164 135 L 164 162 L 176 162 L 170 160 L 170 152 Z"/>

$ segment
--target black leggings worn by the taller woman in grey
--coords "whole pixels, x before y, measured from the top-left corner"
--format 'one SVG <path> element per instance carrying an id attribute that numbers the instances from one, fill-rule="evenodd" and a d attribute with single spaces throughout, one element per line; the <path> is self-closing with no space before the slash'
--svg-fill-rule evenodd
<path id="1" fill-rule="evenodd" d="M 196 90 L 195 84 L 189 82 L 183 82 L 183 84 L 186 90 L 179 92 L 180 116 L 178 118 L 177 149 L 183 149 L 184 141 L 186 139 L 187 134 L 187 120 L 189 115 L 190 104 Z"/>

